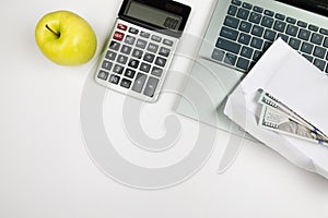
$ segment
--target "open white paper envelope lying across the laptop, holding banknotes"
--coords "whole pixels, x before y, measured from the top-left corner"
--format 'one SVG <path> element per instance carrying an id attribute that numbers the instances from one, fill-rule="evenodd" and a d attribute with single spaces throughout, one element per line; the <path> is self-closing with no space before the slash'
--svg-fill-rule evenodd
<path id="1" fill-rule="evenodd" d="M 229 96 L 224 113 L 293 164 L 328 179 L 328 147 L 258 126 L 258 89 L 271 94 L 328 135 L 328 77 L 278 39 Z"/>

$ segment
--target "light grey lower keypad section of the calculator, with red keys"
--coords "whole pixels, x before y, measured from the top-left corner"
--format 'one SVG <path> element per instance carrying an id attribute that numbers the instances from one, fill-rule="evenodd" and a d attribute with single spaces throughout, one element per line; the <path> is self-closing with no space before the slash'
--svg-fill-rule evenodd
<path id="1" fill-rule="evenodd" d="M 177 40 L 118 19 L 95 80 L 106 87 L 153 101 Z"/>

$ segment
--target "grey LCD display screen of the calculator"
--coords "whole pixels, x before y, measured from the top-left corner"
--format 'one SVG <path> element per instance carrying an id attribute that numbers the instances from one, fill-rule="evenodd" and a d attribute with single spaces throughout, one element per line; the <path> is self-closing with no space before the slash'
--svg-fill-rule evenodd
<path id="1" fill-rule="evenodd" d="M 125 15 L 173 31 L 178 31 L 183 21 L 183 16 L 137 1 L 130 2 L 130 5 L 125 11 Z"/>

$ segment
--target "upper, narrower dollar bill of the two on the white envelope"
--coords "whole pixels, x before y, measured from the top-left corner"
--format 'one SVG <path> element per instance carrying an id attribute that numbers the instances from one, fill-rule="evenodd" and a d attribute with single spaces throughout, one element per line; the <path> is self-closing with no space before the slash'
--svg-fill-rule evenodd
<path id="1" fill-rule="evenodd" d="M 303 119 L 302 117 L 300 117 L 296 112 L 294 112 L 293 110 L 291 110 L 289 107 L 286 107 L 284 104 L 282 104 L 281 101 L 279 101 L 277 98 L 274 98 L 270 94 L 268 94 L 266 92 L 262 92 L 261 95 L 260 95 L 260 98 L 259 98 L 258 102 L 261 104 L 262 106 L 269 107 L 271 109 L 280 111 L 281 113 L 284 113 L 285 117 L 290 118 L 294 122 L 296 122 L 296 123 L 298 123 L 298 124 L 307 128 L 308 130 L 311 130 L 312 132 L 317 133 L 318 135 L 321 135 L 323 138 L 328 140 L 328 136 L 325 135 L 321 131 L 319 131 L 313 124 L 311 124 L 305 119 Z"/>

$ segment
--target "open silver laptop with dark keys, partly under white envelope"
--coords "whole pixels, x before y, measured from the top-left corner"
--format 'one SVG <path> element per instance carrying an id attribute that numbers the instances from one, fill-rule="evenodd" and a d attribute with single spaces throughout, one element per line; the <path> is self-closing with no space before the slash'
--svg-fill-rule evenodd
<path id="1" fill-rule="evenodd" d="M 328 0 L 219 0 L 177 112 L 244 135 L 223 114 L 227 95 L 278 37 L 328 73 L 327 16 Z"/>

